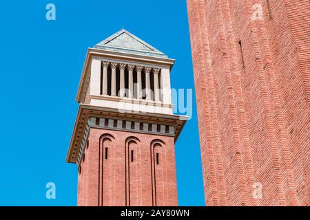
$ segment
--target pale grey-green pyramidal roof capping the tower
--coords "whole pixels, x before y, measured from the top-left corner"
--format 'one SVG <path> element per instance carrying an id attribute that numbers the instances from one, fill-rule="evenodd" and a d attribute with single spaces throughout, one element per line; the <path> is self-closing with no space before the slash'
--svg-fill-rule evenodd
<path id="1" fill-rule="evenodd" d="M 155 47 L 145 43 L 134 34 L 125 29 L 109 36 L 104 41 L 94 45 L 94 48 L 101 50 L 110 50 L 114 52 L 123 52 L 129 54 L 139 54 L 145 56 L 157 56 L 167 58 L 167 55 L 160 52 Z"/>

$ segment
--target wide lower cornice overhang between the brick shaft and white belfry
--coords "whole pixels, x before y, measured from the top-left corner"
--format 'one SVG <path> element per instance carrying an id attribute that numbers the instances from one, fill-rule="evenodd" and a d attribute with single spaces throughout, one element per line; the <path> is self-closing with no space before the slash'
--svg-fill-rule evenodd
<path id="1" fill-rule="evenodd" d="M 118 109 L 108 107 L 95 107 L 89 104 L 80 104 L 76 115 L 74 129 L 70 140 L 70 145 L 66 157 L 69 163 L 76 163 L 79 148 L 83 140 L 83 133 L 89 118 L 110 118 L 114 120 L 132 120 L 135 122 L 147 122 L 149 124 L 162 124 L 174 126 L 174 142 L 178 139 L 188 117 L 185 115 L 163 114 L 163 113 L 143 113 L 143 112 L 120 112 Z M 108 128 L 107 128 L 108 129 Z M 132 131 L 140 132 L 140 131 Z M 163 135 L 158 133 L 158 135 Z"/>

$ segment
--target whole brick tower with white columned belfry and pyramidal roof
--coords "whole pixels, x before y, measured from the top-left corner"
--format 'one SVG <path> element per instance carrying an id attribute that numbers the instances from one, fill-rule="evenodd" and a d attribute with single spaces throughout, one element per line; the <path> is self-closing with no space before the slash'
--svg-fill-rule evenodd
<path id="1" fill-rule="evenodd" d="M 78 165 L 78 206 L 177 206 L 172 113 L 174 60 L 121 30 L 89 48 L 67 162 Z"/>

